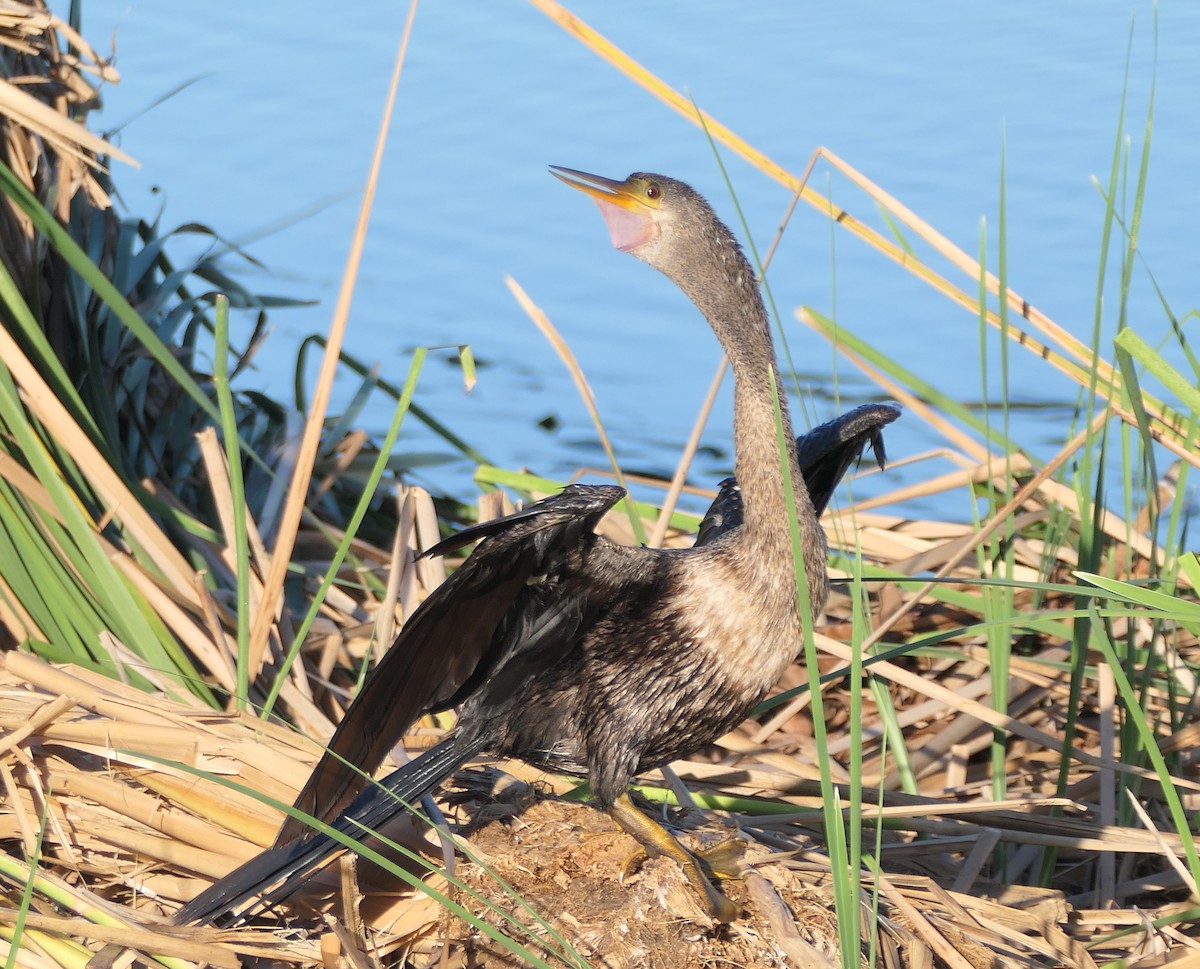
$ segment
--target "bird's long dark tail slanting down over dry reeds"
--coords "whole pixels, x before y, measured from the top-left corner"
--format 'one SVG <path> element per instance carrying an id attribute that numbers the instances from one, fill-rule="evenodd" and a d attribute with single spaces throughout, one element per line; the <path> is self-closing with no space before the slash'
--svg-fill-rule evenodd
<path id="1" fill-rule="evenodd" d="M 404 811 L 408 804 L 430 794 L 484 746 L 481 742 L 464 744 L 454 735 L 446 738 L 364 790 L 334 821 L 334 830 L 360 838 L 365 831 L 380 827 Z M 344 845 L 341 842 L 320 832 L 307 841 L 268 848 L 184 905 L 175 913 L 175 922 L 240 925 L 288 898 L 314 868 L 342 850 Z M 254 905 L 235 911 L 256 897 L 258 902 Z"/>

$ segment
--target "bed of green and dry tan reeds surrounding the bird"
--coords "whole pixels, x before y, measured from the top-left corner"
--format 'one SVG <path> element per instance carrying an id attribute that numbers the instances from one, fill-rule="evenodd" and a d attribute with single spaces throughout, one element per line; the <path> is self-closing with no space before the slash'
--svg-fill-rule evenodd
<path id="1" fill-rule="evenodd" d="M 0 945 L 10 964 L 82 965 L 110 946 L 100 964 L 1200 965 L 1200 564 L 1186 552 L 1182 498 L 1198 464 L 1195 381 L 1130 330 L 1110 363 L 1098 342 L 1067 335 L 821 152 L 815 163 L 917 243 L 896 245 L 562 7 L 536 4 L 797 201 L 965 307 L 982 332 L 1075 379 L 1074 432 L 1034 461 L 838 329 L 846 359 L 943 445 L 905 458 L 922 483 L 872 488 L 827 516 L 835 595 L 816 630 L 815 670 L 798 663 L 739 729 L 642 778 L 641 796 L 738 869 L 726 886 L 745 911 L 736 923 L 708 926 L 676 866 L 630 863 L 632 842 L 574 782 L 498 762 L 448 788 L 439 835 L 398 819 L 362 859 L 314 875 L 294 905 L 253 927 L 172 926 L 181 902 L 270 843 L 361 675 L 452 567 L 415 561 L 445 523 L 430 495 L 388 473 L 402 420 L 438 426 L 412 405 L 421 354 L 391 390 L 383 441 L 346 419 L 325 423 L 344 300 L 302 429 L 281 405 L 235 393 L 230 371 L 281 300 L 238 288 L 215 261 L 173 265 L 169 239 L 112 213 L 107 164 L 119 156 L 78 119 L 95 97 L 85 74 L 115 74 L 43 5 L 10 5 L 0 12 L 10 68 L 0 530 L 12 549 L 0 562 Z M 402 60 L 403 46 L 394 89 Z M 58 120 L 37 127 L 47 112 Z M 1123 164 L 1115 160 L 1112 185 Z M 1128 272 L 1135 233 L 1122 229 L 1135 219 L 1109 205 Z M 352 265 L 347 294 L 353 276 Z M 512 288 L 586 392 L 553 325 Z M 251 314 L 256 335 L 234 350 L 230 305 Z M 799 318 L 833 338 L 817 312 Z M 88 339 L 67 339 L 78 335 Z M 216 348 L 215 373 L 197 368 L 198 345 Z M 1127 462 L 1120 516 L 1100 500 L 1106 449 Z M 689 543 L 695 518 L 674 510 L 689 461 L 674 482 L 642 482 L 641 494 L 660 487 L 661 498 L 614 512 L 606 534 Z M 500 486 L 532 500 L 562 484 L 487 467 L 476 477 L 487 493 L 467 517 L 503 513 Z M 905 511 L 916 498 L 976 518 L 918 520 Z M 422 721 L 406 746 L 424 748 L 451 726 Z"/>

